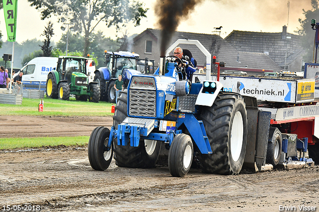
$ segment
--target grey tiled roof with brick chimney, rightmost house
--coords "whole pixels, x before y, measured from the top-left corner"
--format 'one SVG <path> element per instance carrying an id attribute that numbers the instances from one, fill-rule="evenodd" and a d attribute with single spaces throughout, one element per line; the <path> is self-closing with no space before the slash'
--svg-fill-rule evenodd
<path id="1" fill-rule="evenodd" d="M 301 36 L 287 33 L 286 26 L 276 33 L 233 30 L 224 40 L 240 52 L 267 54 L 282 70 L 301 71 L 304 54 Z"/>

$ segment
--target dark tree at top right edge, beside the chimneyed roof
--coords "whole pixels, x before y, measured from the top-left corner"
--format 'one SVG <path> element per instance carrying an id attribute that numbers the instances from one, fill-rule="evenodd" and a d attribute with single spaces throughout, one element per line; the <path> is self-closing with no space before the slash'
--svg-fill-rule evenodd
<path id="1" fill-rule="evenodd" d="M 301 24 L 301 28 L 297 30 L 297 33 L 303 35 L 302 45 L 306 50 L 306 54 L 304 55 L 305 62 L 313 62 L 313 53 L 314 53 L 314 40 L 315 40 L 315 30 L 312 29 L 311 19 L 317 18 L 317 22 L 319 22 L 319 0 L 311 1 L 312 9 L 305 10 L 303 9 L 303 14 L 305 15 L 305 19 L 302 20 L 299 18 L 299 22 Z"/>

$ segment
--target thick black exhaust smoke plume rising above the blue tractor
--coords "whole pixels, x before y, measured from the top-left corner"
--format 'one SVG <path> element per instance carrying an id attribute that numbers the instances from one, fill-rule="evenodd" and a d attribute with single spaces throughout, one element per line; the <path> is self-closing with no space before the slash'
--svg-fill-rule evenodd
<path id="1" fill-rule="evenodd" d="M 161 29 L 160 56 L 165 56 L 165 51 L 175 32 L 180 20 L 186 18 L 197 3 L 202 0 L 158 0 L 156 14 L 159 17 Z"/>

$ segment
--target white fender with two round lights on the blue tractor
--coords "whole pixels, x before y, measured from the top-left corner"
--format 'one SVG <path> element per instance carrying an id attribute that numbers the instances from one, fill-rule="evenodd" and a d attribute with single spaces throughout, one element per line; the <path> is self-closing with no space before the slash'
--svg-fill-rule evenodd
<path id="1" fill-rule="evenodd" d="M 223 91 L 223 84 L 218 81 L 205 80 L 196 99 L 197 106 L 212 106 L 220 91 Z"/>

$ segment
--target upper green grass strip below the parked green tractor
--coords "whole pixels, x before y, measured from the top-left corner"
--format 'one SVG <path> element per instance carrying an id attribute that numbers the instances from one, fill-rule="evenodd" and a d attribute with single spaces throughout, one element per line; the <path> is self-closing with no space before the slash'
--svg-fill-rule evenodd
<path id="1" fill-rule="evenodd" d="M 37 115 L 37 116 L 105 116 L 111 113 L 111 103 L 90 103 L 76 101 L 53 100 L 44 98 L 43 112 L 38 111 L 38 99 L 23 98 L 22 105 L 0 104 L 0 115 Z"/>

